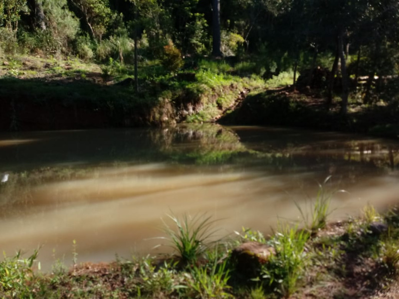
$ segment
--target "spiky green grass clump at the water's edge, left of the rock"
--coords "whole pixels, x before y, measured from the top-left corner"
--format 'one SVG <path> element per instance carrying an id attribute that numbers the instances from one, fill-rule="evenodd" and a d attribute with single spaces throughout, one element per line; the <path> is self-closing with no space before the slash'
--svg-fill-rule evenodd
<path id="1" fill-rule="evenodd" d="M 183 264 L 194 264 L 211 244 L 209 239 L 215 232 L 211 230 L 214 220 L 204 214 L 194 217 L 184 214 L 182 219 L 175 215 L 168 216 L 177 229 L 175 231 L 164 221 L 165 232 L 169 235 L 172 247 L 178 252 Z"/>

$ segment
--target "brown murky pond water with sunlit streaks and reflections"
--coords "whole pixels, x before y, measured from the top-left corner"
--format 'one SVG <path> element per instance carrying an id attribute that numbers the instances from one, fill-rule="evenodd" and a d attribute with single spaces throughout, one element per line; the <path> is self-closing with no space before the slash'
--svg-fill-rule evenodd
<path id="1" fill-rule="evenodd" d="M 225 236 L 268 232 L 298 220 L 318 183 L 332 175 L 330 219 L 367 203 L 399 203 L 399 143 L 300 130 L 178 126 L 170 129 L 30 132 L 0 135 L 0 250 L 41 246 L 42 268 L 110 261 L 115 254 L 169 251 L 167 214 L 207 213 Z"/>

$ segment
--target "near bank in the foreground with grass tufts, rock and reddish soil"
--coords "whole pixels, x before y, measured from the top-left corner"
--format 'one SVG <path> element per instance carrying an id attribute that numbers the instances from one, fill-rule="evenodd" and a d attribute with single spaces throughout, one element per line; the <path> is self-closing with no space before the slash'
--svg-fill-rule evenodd
<path id="1" fill-rule="evenodd" d="M 328 223 L 333 193 L 321 185 L 302 221 L 271 236 L 243 228 L 215 240 L 217 220 L 171 214 L 172 256 L 113 263 L 57 262 L 40 271 L 40 250 L 0 263 L 1 298 L 387 298 L 397 294 L 399 211 L 366 206 L 358 218 Z M 161 242 L 161 241 L 160 241 Z"/>

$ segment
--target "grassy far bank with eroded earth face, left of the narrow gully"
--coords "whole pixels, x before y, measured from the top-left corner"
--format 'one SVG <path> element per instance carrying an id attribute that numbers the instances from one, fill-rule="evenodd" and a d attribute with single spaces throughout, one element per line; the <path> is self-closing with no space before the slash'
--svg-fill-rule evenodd
<path id="1" fill-rule="evenodd" d="M 0 128 L 55 130 L 170 125 L 211 121 L 242 93 L 261 88 L 256 76 L 234 75 L 225 62 L 187 61 L 171 72 L 160 61 L 142 62 L 138 91 L 133 66 L 110 60 L 3 57 Z"/>

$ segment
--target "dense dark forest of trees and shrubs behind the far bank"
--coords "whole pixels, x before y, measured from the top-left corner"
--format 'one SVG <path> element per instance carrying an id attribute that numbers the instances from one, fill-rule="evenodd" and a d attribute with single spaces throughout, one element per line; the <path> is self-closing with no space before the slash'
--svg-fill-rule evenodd
<path id="1" fill-rule="evenodd" d="M 291 91 L 317 89 L 327 110 L 339 102 L 341 116 L 351 101 L 388 105 L 389 123 L 397 125 L 396 0 L 1 0 L 0 5 L 3 57 L 78 57 L 102 65 L 105 77 L 131 66 L 125 75 L 136 78 L 131 83 L 136 93 L 153 90 L 148 79 L 165 74 L 193 81 L 187 72 L 195 73 L 205 57 L 228 64 L 232 68 L 224 71 L 241 77 L 269 80 L 289 73 Z M 3 64 L 10 70 L 9 62 Z"/>

